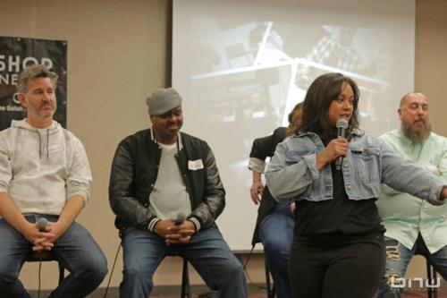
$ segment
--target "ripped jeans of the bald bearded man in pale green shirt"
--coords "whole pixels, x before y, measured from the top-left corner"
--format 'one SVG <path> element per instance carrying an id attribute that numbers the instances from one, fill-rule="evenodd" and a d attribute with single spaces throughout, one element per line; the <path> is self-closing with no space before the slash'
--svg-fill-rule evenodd
<path id="1" fill-rule="evenodd" d="M 436 271 L 445 279 L 447 277 L 447 246 L 444 246 L 441 250 L 431 254 L 425 246 L 422 237 L 417 237 L 417 241 L 413 248 L 409 250 L 397 240 L 384 237 L 386 245 L 386 269 L 385 275 L 377 292 L 378 298 L 400 298 L 401 291 L 403 290 L 403 284 L 400 279 L 405 277 L 405 271 L 409 265 L 409 260 L 413 257 L 416 251 L 423 254 L 426 260 L 434 266 Z M 403 283 L 403 282 L 402 282 Z M 423 281 L 426 285 L 426 281 Z M 436 281 L 434 281 L 436 283 Z M 416 282 L 419 286 L 419 283 Z"/>

